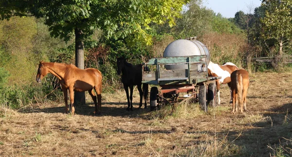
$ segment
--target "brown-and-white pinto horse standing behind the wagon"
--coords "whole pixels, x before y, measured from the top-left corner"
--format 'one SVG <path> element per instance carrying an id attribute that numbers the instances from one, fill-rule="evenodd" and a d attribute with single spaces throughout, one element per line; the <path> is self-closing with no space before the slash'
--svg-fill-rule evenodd
<path id="1" fill-rule="evenodd" d="M 211 61 L 209 62 L 208 76 L 221 77 L 221 79 L 216 80 L 218 105 L 220 105 L 220 84 L 228 84 L 228 87 L 230 89 L 230 100 L 231 100 L 230 102 L 232 102 L 230 74 L 234 70 L 238 70 L 238 68 L 235 64 L 231 62 L 224 63 L 222 66 L 215 64 Z"/>

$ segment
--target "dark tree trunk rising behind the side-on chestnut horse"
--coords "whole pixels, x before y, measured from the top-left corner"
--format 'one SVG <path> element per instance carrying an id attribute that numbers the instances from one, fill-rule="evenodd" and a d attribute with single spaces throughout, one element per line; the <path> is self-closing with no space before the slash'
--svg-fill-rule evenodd
<path id="1" fill-rule="evenodd" d="M 84 69 L 82 30 L 75 28 L 75 66 Z M 74 92 L 74 105 L 85 105 L 85 92 Z"/>

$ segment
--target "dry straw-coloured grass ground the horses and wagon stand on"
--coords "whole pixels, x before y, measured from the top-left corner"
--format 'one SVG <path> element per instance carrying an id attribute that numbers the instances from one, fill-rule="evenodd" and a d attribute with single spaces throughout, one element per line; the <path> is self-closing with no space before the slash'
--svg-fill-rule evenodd
<path id="1" fill-rule="evenodd" d="M 221 86 L 221 105 L 208 113 L 195 107 L 164 119 L 152 118 L 161 112 L 149 107 L 138 109 L 138 94 L 134 111 L 126 111 L 124 91 L 103 93 L 101 116 L 93 116 L 89 96 L 75 115 L 63 114 L 63 102 L 18 111 L 2 107 L 0 156 L 291 156 L 291 84 L 292 72 L 251 74 L 248 111 L 237 115 L 230 114 L 226 85 Z"/>

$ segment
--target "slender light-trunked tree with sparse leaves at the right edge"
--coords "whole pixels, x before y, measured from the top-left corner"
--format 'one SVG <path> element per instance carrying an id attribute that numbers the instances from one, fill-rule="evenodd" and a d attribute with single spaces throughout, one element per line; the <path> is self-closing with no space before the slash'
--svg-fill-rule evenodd
<path id="1" fill-rule="evenodd" d="M 282 47 L 292 38 L 292 0 L 262 0 L 265 16 L 261 18 L 264 38 L 278 41 L 278 55 L 282 57 Z"/>

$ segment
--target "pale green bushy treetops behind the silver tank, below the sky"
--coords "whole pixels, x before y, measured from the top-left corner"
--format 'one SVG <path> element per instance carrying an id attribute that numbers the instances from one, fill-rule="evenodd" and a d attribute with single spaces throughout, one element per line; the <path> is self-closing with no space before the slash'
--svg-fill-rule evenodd
<path id="1" fill-rule="evenodd" d="M 222 33 L 241 33 L 237 26 L 215 14 L 213 10 L 201 6 L 201 0 L 191 0 L 186 5 L 187 10 L 183 12 L 182 18 L 178 19 L 175 27 L 176 38 L 186 38 L 198 36 L 199 38 L 209 32 Z"/>

